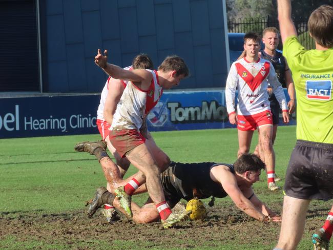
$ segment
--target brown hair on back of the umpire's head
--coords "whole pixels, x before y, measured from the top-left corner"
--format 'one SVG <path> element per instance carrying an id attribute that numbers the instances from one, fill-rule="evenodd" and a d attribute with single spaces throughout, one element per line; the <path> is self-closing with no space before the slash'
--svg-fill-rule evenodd
<path id="1" fill-rule="evenodd" d="M 311 36 L 317 44 L 325 47 L 333 47 L 333 7 L 322 5 L 315 9 L 307 22 Z"/>

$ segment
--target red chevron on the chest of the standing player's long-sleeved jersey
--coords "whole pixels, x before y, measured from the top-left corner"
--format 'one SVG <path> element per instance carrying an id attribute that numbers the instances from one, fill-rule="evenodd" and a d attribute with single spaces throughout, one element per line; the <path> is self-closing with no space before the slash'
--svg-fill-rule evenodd
<path id="1" fill-rule="evenodd" d="M 266 61 L 263 67 L 259 70 L 256 76 L 253 76 L 243 65 L 240 63 L 235 64 L 238 75 L 246 82 L 248 87 L 255 91 L 261 82 L 267 77 L 269 73 L 269 63 Z"/>

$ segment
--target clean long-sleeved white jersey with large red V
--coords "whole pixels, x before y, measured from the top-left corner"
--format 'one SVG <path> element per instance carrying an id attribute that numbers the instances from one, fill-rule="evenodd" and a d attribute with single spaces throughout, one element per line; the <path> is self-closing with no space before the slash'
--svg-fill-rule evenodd
<path id="1" fill-rule="evenodd" d="M 250 63 L 244 58 L 235 61 L 226 79 L 225 102 L 228 114 L 235 113 L 235 93 L 238 90 L 237 113 L 239 115 L 254 115 L 270 110 L 267 85 L 273 92 L 283 111 L 287 111 L 287 102 L 283 88 L 269 61 L 259 58 Z"/>

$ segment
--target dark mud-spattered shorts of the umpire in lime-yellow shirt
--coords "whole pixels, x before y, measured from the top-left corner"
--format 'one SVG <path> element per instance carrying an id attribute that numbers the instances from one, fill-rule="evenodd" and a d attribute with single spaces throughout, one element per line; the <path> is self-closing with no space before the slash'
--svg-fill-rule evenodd
<path id="1" fill-rule="evenodd" d="M 333 144 L 297 140 L 285 177 L 287 196 L 299 199 L 333 198 Z"/>

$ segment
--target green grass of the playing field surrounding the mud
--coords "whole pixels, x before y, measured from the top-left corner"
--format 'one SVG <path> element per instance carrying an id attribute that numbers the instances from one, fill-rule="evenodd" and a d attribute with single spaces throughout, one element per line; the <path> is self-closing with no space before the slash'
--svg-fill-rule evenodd
<path id="1" fill-rule="evenodd" d="M 201 162 L 215 161 L 232 163 L 238 150 L 237 130 L 197 130 L 152 133 L 157 145 L 174 161 Z M 252 149 L 257 143 L 254 134 Z M 58 137 L 35 137 L 0 140 L 0 216 L 10 213 L 19 217 L 25 213 L 36 215 L 70 213 L 84 209 L 84 201 L 92 196 L 96 188 L 106 185 L 100 165 L 94 156 L 74 152 L 74 144 L 84 140 L 98 140 L 99 135 L 78 135 Z M 279 127 L 274 145 L 276 152 L 276 173 L 284 177 L 290 153 L 296 142 L 296 127 Z M 127 176 L 136 172 L 132 166 Z M 269 193 L 266 177 L 254 185 L 256 194 L 265 203 L 282 205 L 280 193 Z M 282 184 L 280 184 L 282 185 Z M 142 204 L 147 195 L 136 197 Z M 230 198 L 218 199 L 217 204 L 233 205 Z M 315 203 L 316 205 L 316 203 Z M 323 208 L 329 210 L 329 204 Z M 310 207 L 311 208 L 311 207 Z M 1 219 L 1 217 L 0 217 Z M 324 220 L 325 218 L 319 218 Z M 1 220 L 0 220 L 1 223 Z M 276 231 L 276 230 L 275 230 Z M 181 233 L 181 232 L 179 232 Z M 269 233 L 269 232 L 267 232 Z M 278 235 L 278 232 L 275 232 Z M 308 235 L 306 236 L 308 237 Z M 69 249 L 63 242 L 48 244 L 31 238 L 17 241 L 16 236 L 0 236 L 0 248 L 9 249 Z M 184 242 L 195 239 L 183 239 Z M 75 241 L 75 239 L 74 239 Z M 236 241 L 236 242 L 235 242 Z M 139 248 L 165 249 L 154 247 L 152 242 L 113 241 L 115 249 Z M 182 242 L 179 243 L 180 245 Z M 272 242 L 272 245 L 274 242 Z M 94 242 L 75 242 L 75 249 L 94 249 Z M 299 249 L 309 249 L 309 240 L 302 240 Z M 98 249 L 109 249 L 110 242 L 98 241 Z M 177 249 L 182 249 L 178 247 Z M 267 249 L 261 241 L 242 242 L 234 239 L 229 242 L 210 241 L 194 249 Z"/>

